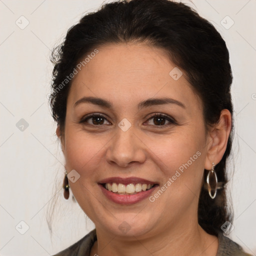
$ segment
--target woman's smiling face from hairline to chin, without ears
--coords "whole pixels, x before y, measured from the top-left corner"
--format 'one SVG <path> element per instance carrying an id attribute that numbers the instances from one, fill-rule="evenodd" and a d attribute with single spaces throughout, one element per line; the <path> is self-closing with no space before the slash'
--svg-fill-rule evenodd
<path id="1" fill-rule="evenodd" d="M 72 193 L 98 230 L 115 235 L 197 224 L 206 134 L 201 100 L 163 50 L 101 46 L 67 99 L 61 142 Z"/>

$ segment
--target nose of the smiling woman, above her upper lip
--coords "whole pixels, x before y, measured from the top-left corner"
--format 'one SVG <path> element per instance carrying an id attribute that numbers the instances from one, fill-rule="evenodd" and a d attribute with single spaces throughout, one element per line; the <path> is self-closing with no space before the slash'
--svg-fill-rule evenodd
<path id="1" fill-rule="evenodd" d="M 132 126 L 126 131 L 117 126 L 115 136 L 108 143 L 107 162 L 125 168 L 135 163 L 143 163 L 145 159 L 146 145 Z"/>

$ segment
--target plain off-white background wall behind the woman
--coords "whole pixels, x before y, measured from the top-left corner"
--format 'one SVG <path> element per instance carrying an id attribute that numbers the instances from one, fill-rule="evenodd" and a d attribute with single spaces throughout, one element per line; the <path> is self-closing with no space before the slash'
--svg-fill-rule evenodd
<path id="1" fill-rule="evenodd" d="M 213 23 L 230 52 L 235 125 L 230 237 L 255 255 L 256 1 L 183 2 Z M 50 49 L 82 14 L 101 4 L 101 0 L 0 0 L 0 255 L 50 255 L 93 228 L 77 203 L 63 199 L 64 159 L 47 94 Z M 223 19 L 226 15 L 234 21 L 229 29 L 221 24 L 221 20 L 226 27 L 231 24 L 229 18 Z M 23 28 L 26 19 L 29 24 Z M 29 124 L 23 131 L 16 127 L 21 118 Z M 45 216 L 54 195 L 59 198 L 50 238 Z M 26 224 L 21 220 L 29 227 L 24 234 L 20 232 Z"/>

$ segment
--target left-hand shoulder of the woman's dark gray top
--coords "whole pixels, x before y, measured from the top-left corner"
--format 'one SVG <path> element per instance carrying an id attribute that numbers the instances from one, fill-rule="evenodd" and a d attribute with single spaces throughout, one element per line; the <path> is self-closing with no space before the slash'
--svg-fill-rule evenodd
<path id="1" fill-rule="evenodd" d="M 91 230 L 80 240 L 70 245 L 68 248 L 54 254 L 52 256 L 85 256 L 89 255 L 90 248 L 93 245 L 96 237 L 96 229 Z"/>

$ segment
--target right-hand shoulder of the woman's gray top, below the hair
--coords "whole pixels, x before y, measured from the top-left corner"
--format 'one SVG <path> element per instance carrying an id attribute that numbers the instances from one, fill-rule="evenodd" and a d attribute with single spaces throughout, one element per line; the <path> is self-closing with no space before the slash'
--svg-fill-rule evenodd
<path id="1" fill-rule="evenodd" d="M 242 247 L 236 242 L 232 241 L 230 238 L 223 235 L 223 233 L 218 233 L 218 250 L 216 256 L 251 256 L 243 251 Z"/>

